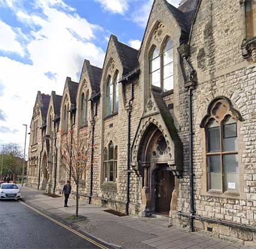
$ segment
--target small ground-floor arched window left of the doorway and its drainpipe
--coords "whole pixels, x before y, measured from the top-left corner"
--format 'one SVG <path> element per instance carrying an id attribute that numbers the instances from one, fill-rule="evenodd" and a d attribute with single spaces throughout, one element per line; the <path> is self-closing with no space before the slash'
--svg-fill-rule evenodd
<path id="1" fill-rule="evenodd" d="M 112 141 L 104 149 L 104 181 L 116 182 L 117 180 L 117 146 L 114 148 Z"/>

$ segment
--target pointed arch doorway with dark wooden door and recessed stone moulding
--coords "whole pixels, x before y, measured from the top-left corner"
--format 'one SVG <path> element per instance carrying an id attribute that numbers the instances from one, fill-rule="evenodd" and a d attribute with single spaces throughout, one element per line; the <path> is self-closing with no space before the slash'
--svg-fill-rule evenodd
<path id="1" fill-rule="evenodd" d="M 168 215 L 176 198 L 176 178 L 169 167 L 170 153 L 164 134 L 149 124 L 140 140 L 138 164 L 142 175 L 142 215 Z"/>

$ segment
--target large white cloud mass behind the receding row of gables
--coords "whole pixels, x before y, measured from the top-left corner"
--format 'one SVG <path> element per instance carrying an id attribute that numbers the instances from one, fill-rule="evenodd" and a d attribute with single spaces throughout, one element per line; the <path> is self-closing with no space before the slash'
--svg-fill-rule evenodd
<path id="1" fill-rule="evenodd" d="M 78 16 L 61 0 L 36 2 L 36 13 L 17 7 L 15 2 L 11 8 L 20 22 L 31 30 L 27 37 L 22 37 L 27 39 L 25 56 L 31 63 L 0 56 L 0 68 L 5 68 L 0 74 L 0 82 L 4 85 L 0 106 L 6 114 L 5 121 L 0 120 L 0 126 L 8 127 L 10 131 L 19 130 L 16 134 L 0 133 L 0 140 L 5 143 L 23 143 L 25 131 L 22 124 L 30 126 L 37 91 L 46 94 L 56 91 L 62 95 L 66 76 L 76 81 L 85 58 L 101 67 L 105 56 L 101 47 L 94 43 L 95 33 L 102 32 L 101 27 Z M 57 5 L 52 5 L 54 2 Z M 22 34 L 17 30 L 14 35 Z M 12 45 L 11 50 L 17 51 L 17 44 Z M 54 77 L 49 77 L 49 72 Z"/>

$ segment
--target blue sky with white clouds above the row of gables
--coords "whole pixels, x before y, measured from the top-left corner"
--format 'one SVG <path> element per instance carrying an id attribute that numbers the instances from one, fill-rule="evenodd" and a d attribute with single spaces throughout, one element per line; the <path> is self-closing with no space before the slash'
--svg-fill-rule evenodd
<path id="1" fill-rule="evenodd" d="M 0 147 L 24 146 L 37 91 L 62 95 L 84 59 L 102 67 L 110 34 L 139 49 L 152 2 L 0 0 Z"/>

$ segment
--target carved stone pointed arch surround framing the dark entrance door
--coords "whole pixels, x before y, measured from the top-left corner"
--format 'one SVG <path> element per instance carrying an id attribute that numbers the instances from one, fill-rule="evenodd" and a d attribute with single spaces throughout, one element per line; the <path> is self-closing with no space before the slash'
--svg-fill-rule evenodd
<path id="1" fill-rule="evenodd" d="M 169 197 L 167 197 L 169 203 L 166 212 L 173 211 L 173 208 L 176 207 L 177 179 L 173 177 L 175 173 L 169 164 L 170 158 L 172 158 L 171 141 L 161 125 L 154 119 L 146 121 L 140 130 L 132 157 L 133 160 L 137 161 L 137 172 L 142 177 L 142 215 L 148 216 L 157 211 L 159 198 L 155 194 L 158 184 L 156 180 L 158 170 L 172 176 L 169 178 L 170 181 L 166 182 L 166 184 L 170 183 L 173 186 Z"/>

